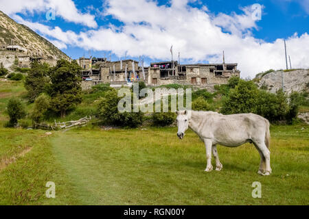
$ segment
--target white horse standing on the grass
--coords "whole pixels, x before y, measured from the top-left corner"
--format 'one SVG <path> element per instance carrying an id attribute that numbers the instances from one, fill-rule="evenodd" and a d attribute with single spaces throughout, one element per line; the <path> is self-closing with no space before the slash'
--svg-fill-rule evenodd
<path id="1" fill-rule="evenodd" d="M 185 131 L 190 127 L 205 143 L 207 167 L 210 172 L 211 151 L 216 159 L 216 170 L 222 169 L 216 144 L 236 147 L 246 142 L 253 143 L 258 149 L 261 162 L 258 174 L 271 174 L 271 152 L 269 149 L 270 132 L 266 118 L 256 114 L 222 115 L 216 112 L 184 110 L 177 113 L 177 136 L 183 139 Z"/>

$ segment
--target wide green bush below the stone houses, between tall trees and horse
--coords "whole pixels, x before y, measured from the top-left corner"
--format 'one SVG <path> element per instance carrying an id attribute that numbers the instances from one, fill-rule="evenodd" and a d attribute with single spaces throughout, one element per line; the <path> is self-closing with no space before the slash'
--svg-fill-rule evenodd
<path id="1" fill-rule="evenodd" d="M 117 96 L 117 90 L 113 89 L 106 92 L 105 97 L 98 103 L 98 117 L 107 125 L 119 127 L 138 127 L 143 122 L 141 112 L 119 112 L 117 105 L 121 100 Z M 133 105 L 131 103 L 131 109 Z"/>

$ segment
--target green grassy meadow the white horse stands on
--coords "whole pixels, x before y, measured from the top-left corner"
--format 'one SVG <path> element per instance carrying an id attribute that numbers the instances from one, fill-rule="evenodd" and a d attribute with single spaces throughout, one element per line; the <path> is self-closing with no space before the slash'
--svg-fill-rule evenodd
<path id="1" fill-rule="evenodd" d="M 309 205 L 308 125 L 271 126 L 270 176 L 257 174 L 252 144 L 218 146 L 223 169 L 208 173 L 205 146 L 190 130 L 179 140 L 175 127 L 4 128 L 8 99 L 24 94 L 21 82 L 0 81 L 0 205 Z M 90 112 L 89 103 L 80 109 Z M 47 181 L 56 198 L 45 196 Z M 254 181 L 262 198 L 251 196 Z"/>

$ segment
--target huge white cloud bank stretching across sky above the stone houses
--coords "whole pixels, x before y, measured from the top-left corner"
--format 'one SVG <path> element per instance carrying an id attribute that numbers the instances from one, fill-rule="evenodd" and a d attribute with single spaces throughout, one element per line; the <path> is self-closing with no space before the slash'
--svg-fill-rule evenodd
<path id="1" fill-rule="evenodd" d="M 113 51 L 116 55 L 152 59 L 170 59 L 170 46 L 174 53 L 192 62 L 222 62 L 225 50 L 226 62 L 238 62 L 242 77 L 254 77 L 270 68 L 285 68 L 284 42 L 264 42 L 252 36 L 258 28 L 247 8 L 242 14 L 210 14 L 204 9 L 192 8 L 180 0 L 173 0 L 170 7 L 158 6 L 154 1 L 108 0 L 104 15 L 124 23 L 121 27 L 110 25 L 90 31 L 75 33 L 52 29 L 40 23 L 19 19 L 21 23 L 54 38 L 58 47 L 81 47 L 96 51 Z M 222 31 L 222 28 L 226 33 Z M 294 68 L 309 68 L 309 35 L 294 34 L 286 40 L 288 55 Z"/>

